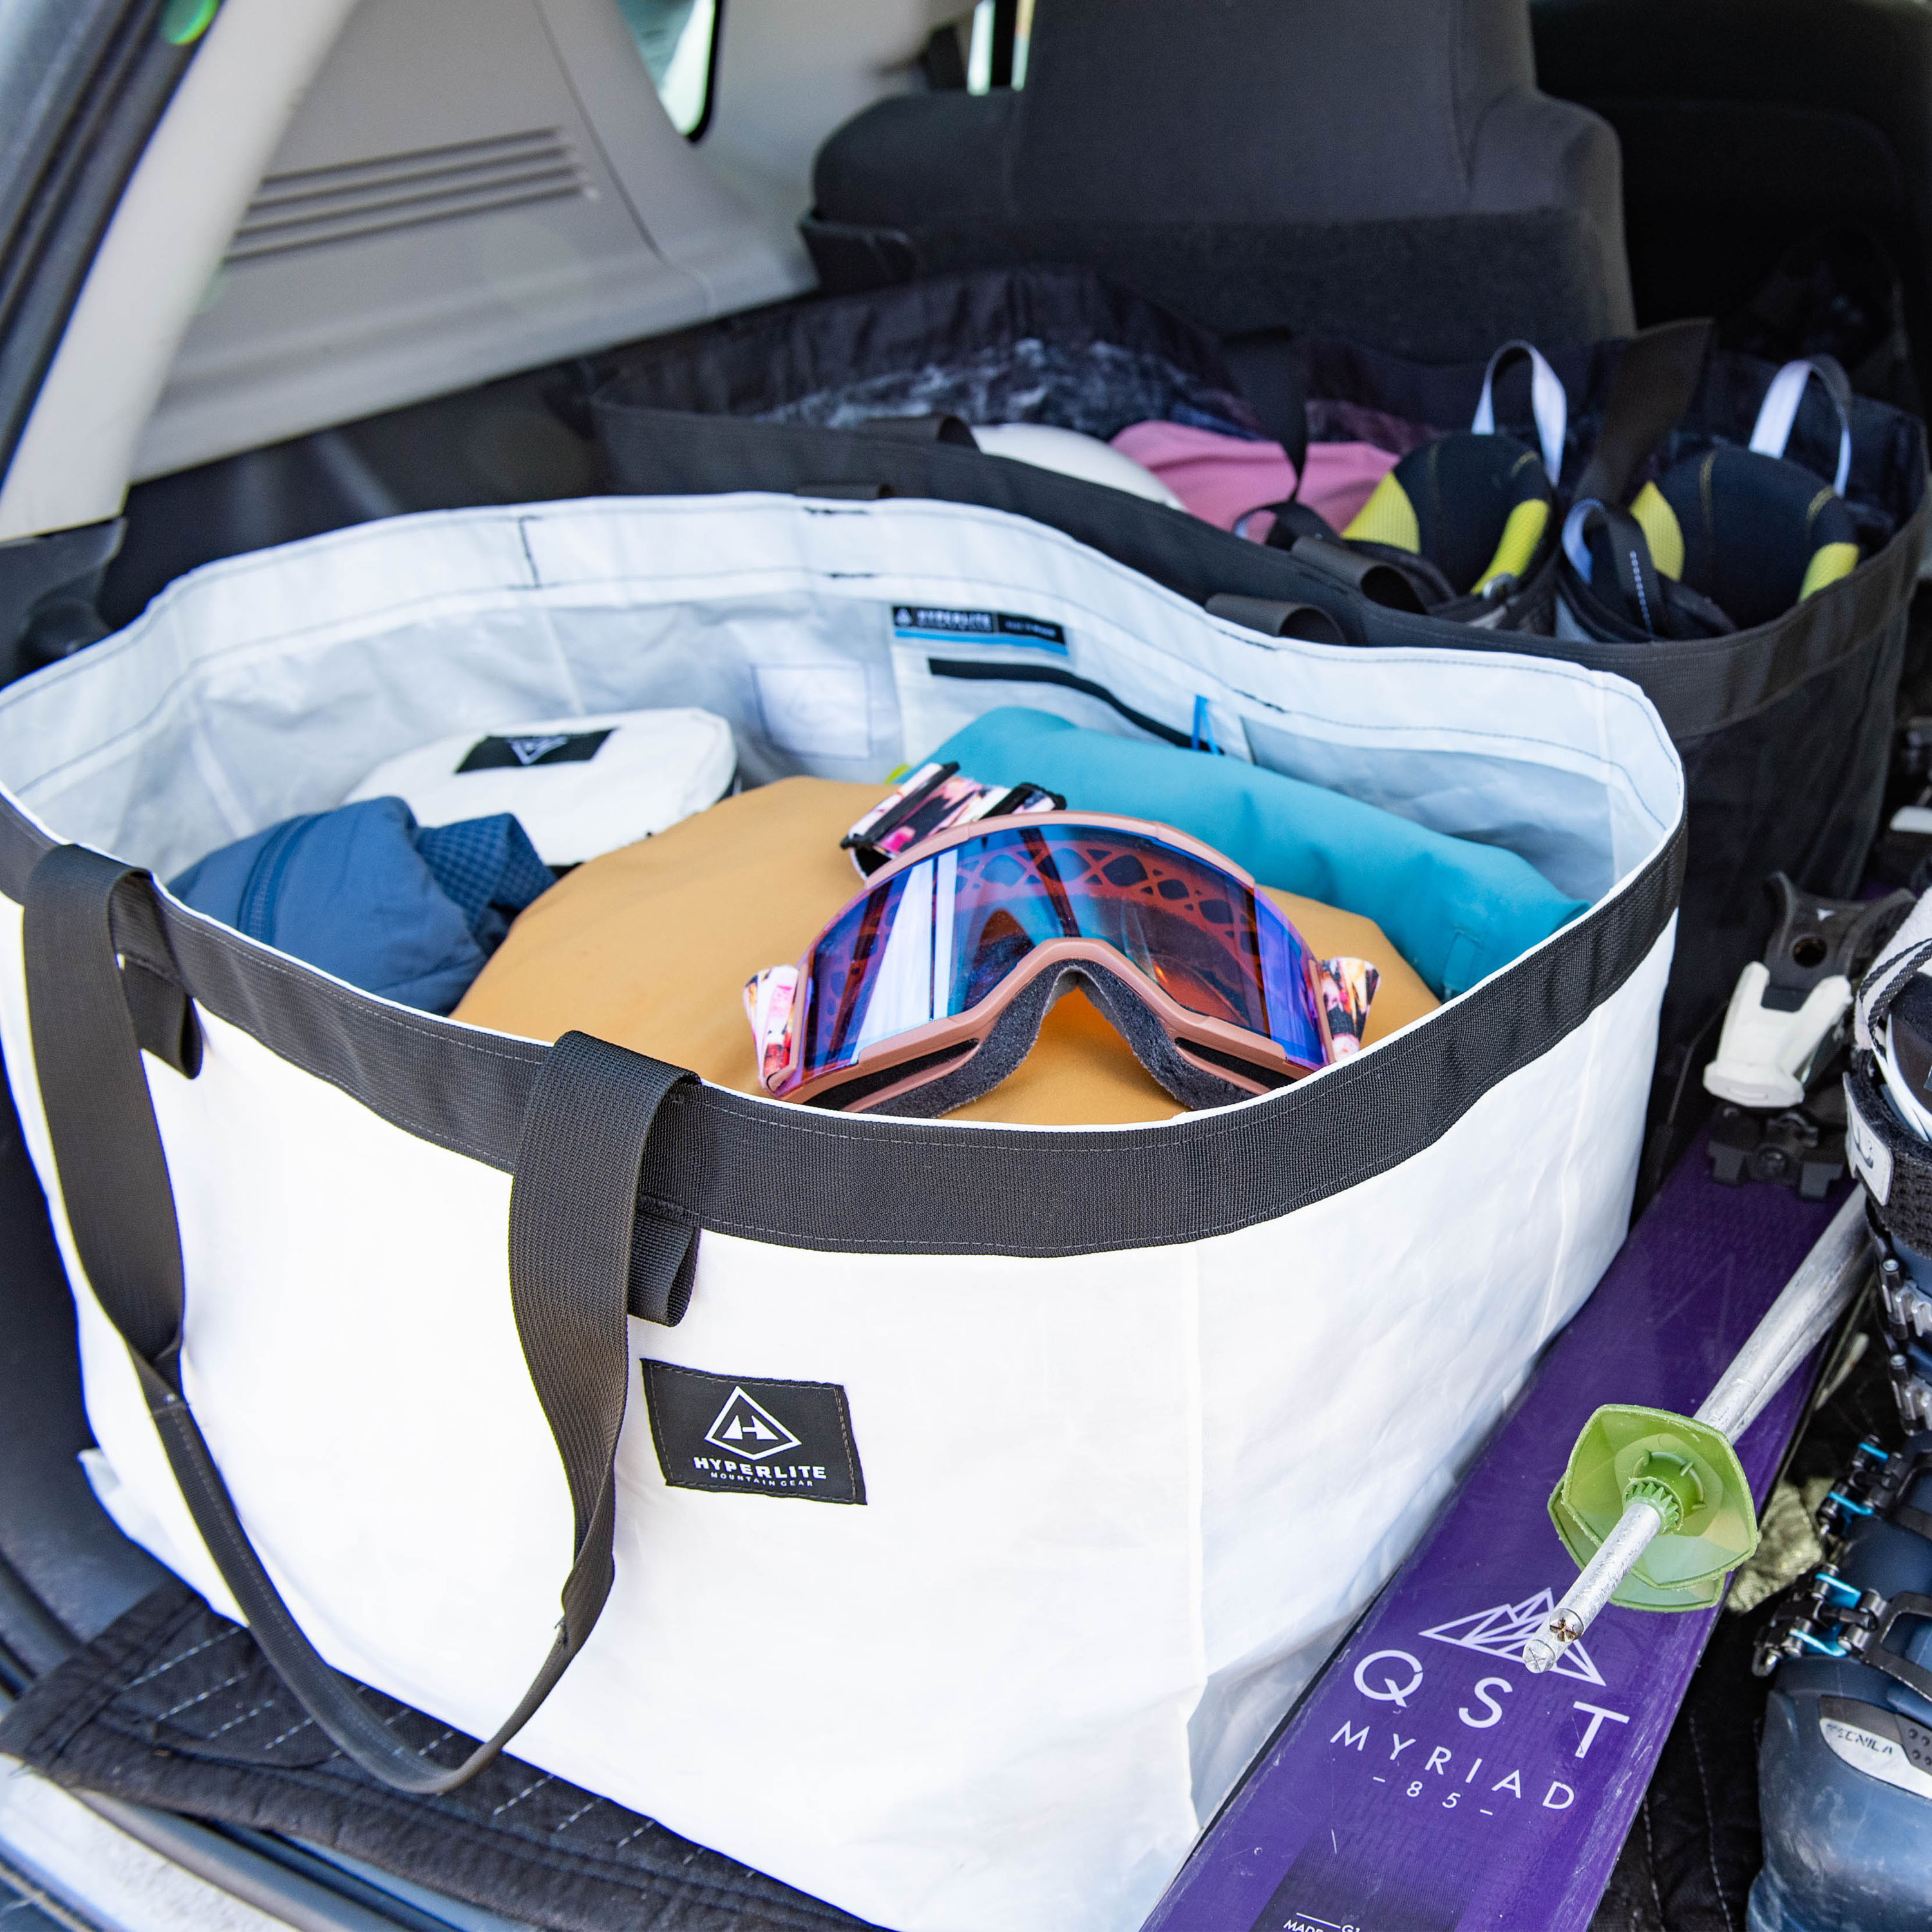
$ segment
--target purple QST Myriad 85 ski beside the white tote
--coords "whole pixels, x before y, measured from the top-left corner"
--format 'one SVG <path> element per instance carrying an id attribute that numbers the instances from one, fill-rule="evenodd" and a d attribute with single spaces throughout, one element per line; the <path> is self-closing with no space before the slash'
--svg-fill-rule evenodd
<path id="1" fill-rule="evenodd" d="M 1600 1403 L 1690 1414 L 1837 1206 L 1725 1188 L 1702 1142 L 1146 1932 L 1582 1932 L 1718 1611 L 1611 1607 L 1544 1677 L 1577 1571 L 1546 1503 Z M 1795 1374 L 1739 1441 L 1762 1503 Z"/>

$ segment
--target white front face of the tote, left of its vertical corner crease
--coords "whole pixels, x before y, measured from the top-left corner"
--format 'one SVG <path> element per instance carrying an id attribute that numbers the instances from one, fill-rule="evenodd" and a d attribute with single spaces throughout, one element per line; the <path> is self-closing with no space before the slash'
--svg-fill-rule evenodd
<path id="1" fill-rule="evenodd" d="M 330 1663 L 487 1735 L 570 1567 L 510 1320 L 508 1177 L 203 1024 L 201 1076 L 153 1074 L 195 1416 Z M 1138 1922 L 1196 1832 L 1194 1333 L 1186 1248 L 707 1235 L 690 1316 L 634 1321 L 634 1352 L 842 1383 L 866 1507 L 667 1488 L 632 1383 L 616 1588 L 518 1756 L 889 1924 Z M 131 1374 L 91 1376 L 89 1408 L 122 1526 L 234 1613 L 158 1445 L 120 1453 L 153 1441 Z M 968 1878 L 962 1839 L 1005 1853 Z"/>

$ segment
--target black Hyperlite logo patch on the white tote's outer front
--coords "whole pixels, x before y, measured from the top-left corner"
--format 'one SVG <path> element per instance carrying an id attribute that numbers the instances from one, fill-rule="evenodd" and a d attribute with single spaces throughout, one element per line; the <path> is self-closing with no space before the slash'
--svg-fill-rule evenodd
<path id="1" fill-rule="evenodd" d="M 707 1376 L 645 1358 L 657 1466 L 672 1490 L 864 1503 L 866 1474 L 837 1381 Z"/>

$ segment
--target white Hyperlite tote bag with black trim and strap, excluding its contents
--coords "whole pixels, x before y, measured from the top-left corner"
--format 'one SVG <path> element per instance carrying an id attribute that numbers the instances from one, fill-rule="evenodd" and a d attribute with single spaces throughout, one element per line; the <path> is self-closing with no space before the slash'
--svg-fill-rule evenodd
<path id="1" fill-rule="evenodd" d="M 149 879 L 502 717 L 877 781 L 999 703 L 1206 715 L 1590 910 L 1293 1088 L 1070 1130 L 481 1032 Z M 1623 1236 L 1683 781 L 1573 665 L 1262 638 L 956 504 L 564 502 L 199 570 L 0 692 L 0 781 L 116 1520 L 383 1776 L 462 1741 L 328 1667 L 900 1932 L 1132 1932 Z"/>

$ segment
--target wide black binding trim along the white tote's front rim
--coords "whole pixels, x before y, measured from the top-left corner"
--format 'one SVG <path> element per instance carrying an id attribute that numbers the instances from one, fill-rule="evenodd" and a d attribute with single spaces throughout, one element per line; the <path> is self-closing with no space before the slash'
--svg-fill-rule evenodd
<path id="1" fill-rule="evenodd" d="M 0 800 L 0 889 L 52 840 Z M 639 1209 L 721 1235 L 850 1254 L 1105 1254 L 1206 1240 L 1414 1157 L 1499 1080 L 1582 1026 L 1663 933 L 1685 827 L 1596 910 L 1374 1053 L 1264 1099 L 1159 1126 L 999 1128 L 823 1115 L 724 1088 L 670 1092 Z M 421 1140 L 514 1169 L 549 1047 L 410 1012 L 162 902 L 197 1005 Z M 129 954 L 135 935 L 116 927 Z"/>

